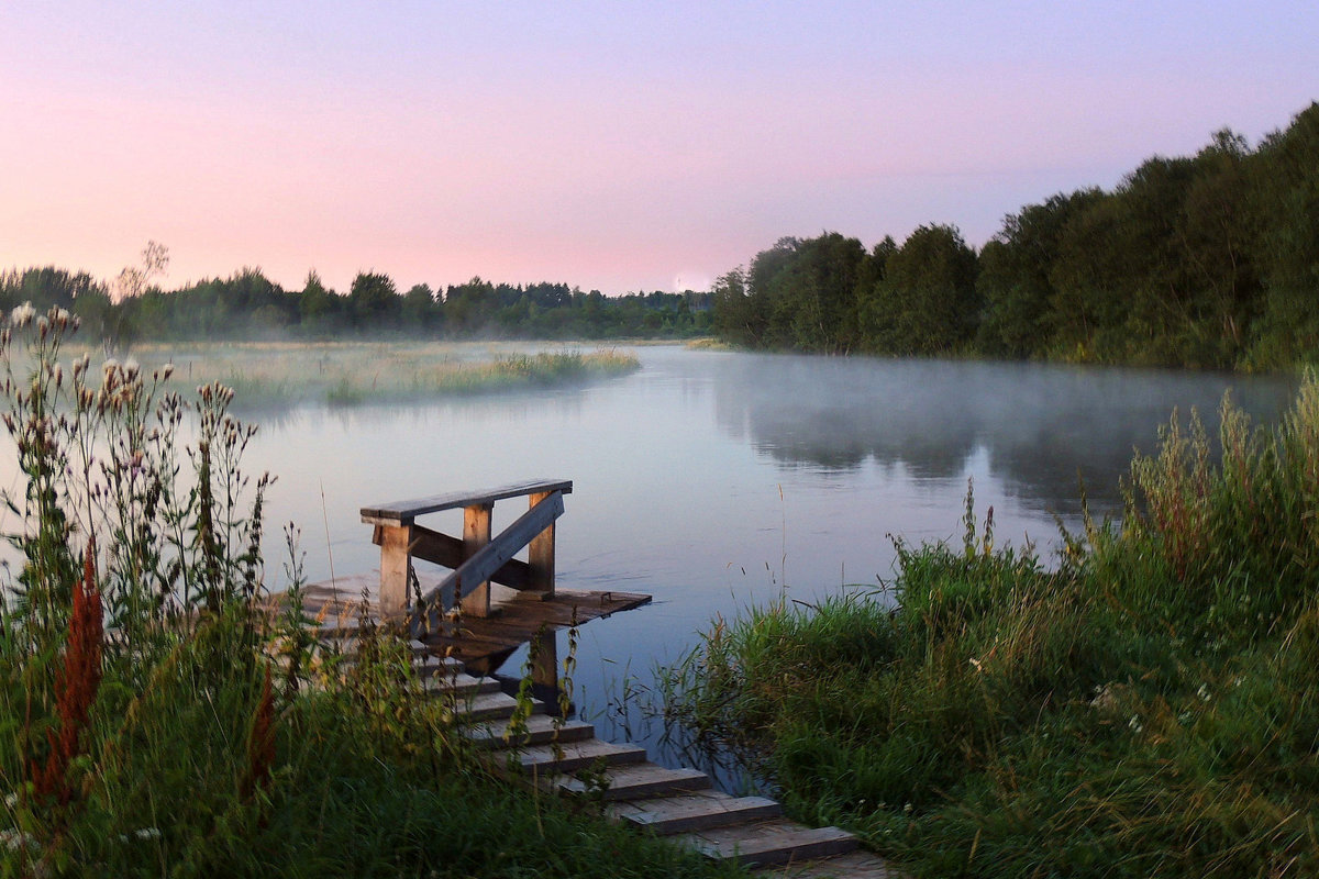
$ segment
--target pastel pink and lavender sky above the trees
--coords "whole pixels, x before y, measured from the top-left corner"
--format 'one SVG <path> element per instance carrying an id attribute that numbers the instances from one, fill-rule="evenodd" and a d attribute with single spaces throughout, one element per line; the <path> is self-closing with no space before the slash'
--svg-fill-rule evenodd
<path id="1" fill-rule="evenodd" d="M 0 5 L 0 269 L 704 289 L 1004 213 L 1319 98 L 1319 4 Z"/>

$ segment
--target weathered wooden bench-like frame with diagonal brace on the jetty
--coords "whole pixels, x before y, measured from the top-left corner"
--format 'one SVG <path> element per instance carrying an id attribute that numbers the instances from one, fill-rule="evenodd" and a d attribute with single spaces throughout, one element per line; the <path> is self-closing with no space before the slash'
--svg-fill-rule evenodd
<path id="1" fill-rule="evenodd" d="M 373 526 L 372 540 L 380 547 L 381 615 L 406 618 L 419 635 L 435 631 L 455 606 L 464 615 L 489 617 L 496 610 L 491 608 L 491 581 L 553 597 L 554 523 L 563 514 L 563 496 L 571 492 L 571 480 L 533 480 L 361 507 L 361 521 Z M 516 497 L 529 498 L 526 513 L 492 538 L 495 502 Z M 418 517 L 456 509 L 463 510 L 460 539 L 417 523 Z M 528 547 L 526 561 L 513 557 L 522 547 Z M 413 559 L 454 572 L 426 594 L 414 596 Z"/>

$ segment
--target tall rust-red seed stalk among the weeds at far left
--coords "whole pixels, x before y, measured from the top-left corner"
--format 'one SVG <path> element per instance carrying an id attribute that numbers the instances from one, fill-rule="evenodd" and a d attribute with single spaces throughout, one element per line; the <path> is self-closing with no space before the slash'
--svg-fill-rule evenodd
<path id="1" fill-rule="evenodd" d="M 61 805 L 73 799 L 69 785 L 69 766 L 80 752 L 82 731 L 86 729 L 91 706 L 100 689 L 100 648 L 103 637 L 100 590 L 96 589 L 96 540 L 87 540 L 82 580 L 74 582 L 74 608 L 69 618 L 69 643 L 65 647 L 65 667 L 55 677 L 55 710 L 59 716 L 59 735 L 49 730 L 50 754 L 46 766 L 32 767 L 33 784 L 38 797 L 54 796 Z"/>

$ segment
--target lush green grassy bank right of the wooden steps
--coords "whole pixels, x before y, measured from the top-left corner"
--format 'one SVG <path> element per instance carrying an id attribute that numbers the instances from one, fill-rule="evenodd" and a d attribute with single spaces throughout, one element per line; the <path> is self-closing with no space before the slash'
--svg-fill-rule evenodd
<path id="1" fill-rule="evenodd" d="M 1175 422 L 1174 422 L 1175 423 Z M 670 722 L 926 876 L 1319 874 L 1319 382 L 1175 427 L 1057 565 L 898 544 L 892 586 L 719 625 Z"/>

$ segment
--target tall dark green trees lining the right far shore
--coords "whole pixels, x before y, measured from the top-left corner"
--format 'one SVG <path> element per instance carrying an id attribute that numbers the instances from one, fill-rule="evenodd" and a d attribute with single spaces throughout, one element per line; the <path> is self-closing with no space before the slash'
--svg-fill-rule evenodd
<path id="1" fill-rule="evenodd" d="M 1319 360 L 1319 103 L 1252 149 L 1231 130 L 1058 194 L 979 252 L 954 225 L 869 250 L 782 239 L 714 287 L 764 349 L 1287 369 Z"/>

